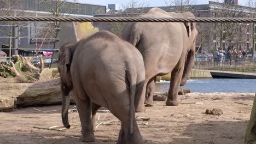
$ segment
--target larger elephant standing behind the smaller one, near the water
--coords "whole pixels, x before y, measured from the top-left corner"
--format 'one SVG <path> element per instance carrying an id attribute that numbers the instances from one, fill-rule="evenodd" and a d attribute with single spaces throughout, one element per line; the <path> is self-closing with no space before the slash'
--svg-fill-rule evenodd
<path id="1" fill-rule="evenodd" d="M 139 17 L 194 17 L 192 13 L 166 13 L 152 8 Z M 153 106 L 156 76 L 171 73 L 171 85 L 166 105 L 178 105 L 179 86 L 185 85 L 194 64 L 195 23 L 128 23 L 123 29 L 123 39 L 129 41 L 142 53 L 146 70 L 145 85 L 136 109 L 145 111 L 145 106 Z M 146 100 L 145 100 L 146 98 Z"/>

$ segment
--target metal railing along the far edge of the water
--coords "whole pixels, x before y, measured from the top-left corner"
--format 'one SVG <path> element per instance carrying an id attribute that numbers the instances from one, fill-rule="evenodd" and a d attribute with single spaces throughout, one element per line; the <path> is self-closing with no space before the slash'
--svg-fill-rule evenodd
<path id="1" fill-rule="evenodd" d="M 194 69 L 256 73 L 256 59 L 245 56 L 196 56 Z"/>

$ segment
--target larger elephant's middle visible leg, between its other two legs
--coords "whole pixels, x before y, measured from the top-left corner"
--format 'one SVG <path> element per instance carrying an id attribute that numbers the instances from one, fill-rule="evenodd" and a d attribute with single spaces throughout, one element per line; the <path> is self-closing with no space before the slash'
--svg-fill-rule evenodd
<path id="1" fill-rule="evenodd" d="M 156 82 L 156 76 L 154 76 L 148 82 L 147 89 L 146 89 L 145 106 L 154 106 L 153 95 L 155 92 L 155 82 Z"/>

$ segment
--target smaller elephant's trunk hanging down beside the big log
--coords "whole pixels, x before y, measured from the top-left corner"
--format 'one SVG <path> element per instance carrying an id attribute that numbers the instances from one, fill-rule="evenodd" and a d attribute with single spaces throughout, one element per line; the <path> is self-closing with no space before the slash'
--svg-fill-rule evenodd
<path id="1" fill-rule="evenodd" d="M 68 109 L 69 109 L 69 103 L 70 103 L 70 96 L 66 92 L 62 82 L 61 82 L 61 97 L 62 97 L 62 109 L 61 109 L 62 123 L 65 128 L 69 129 L 70 125 L 68 123 Z"/>

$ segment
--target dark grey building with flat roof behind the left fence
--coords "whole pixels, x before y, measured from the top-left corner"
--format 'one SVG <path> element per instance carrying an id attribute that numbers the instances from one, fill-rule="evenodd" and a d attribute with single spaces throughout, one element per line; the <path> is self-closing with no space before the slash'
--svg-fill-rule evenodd
<path id="1" fill-rule="evenodd" d="M 92 17 L 95 14 L 106 13 L 105 5 L 73 3 L 72 1 L 56 3 L 53 0 L 15 0 L 10 2 L 13 3 L 6 5 L 0 1 L 0 15 Z M 62 6 L 56 8 L 58 4 Z M 8 7 L 11 7 L 10 10 Z M 20 52 L 27 51 L 25 53 L 28 55 L 34 53 L 36 45 L 39 49 L 42 42 L 41 49 L 43 50 L 53 49 L 53 45 L 57 41 L 54 39 L 57 31 L 54 22 L 0 22 L 0 50 L 7 55 L 9 55 L 10 26 L 14 25 L 18 25 L 18 48 Z"/>

